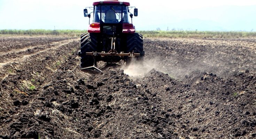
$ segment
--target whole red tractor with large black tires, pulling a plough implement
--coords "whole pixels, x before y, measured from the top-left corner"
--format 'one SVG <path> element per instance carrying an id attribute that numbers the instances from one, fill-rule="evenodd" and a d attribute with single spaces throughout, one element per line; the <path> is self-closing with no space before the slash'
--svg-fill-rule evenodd
<path id="1" fill-rule="evenodd" d="M 84 9 L 89 24 L 93 13 L 93 23 L 88 27 L 88 33 L 81 35 L 81 70 L 102 72 L 96 66 L 98 61 L 116 63 L 124 60 L 127 65 L 131 58 L 144 56 L 142 35 L 135 33 L 128 18 L 129 13 L 132 22 L 130 10 L 134 8 L 134 16 L 138 16 L 138 9 L 129 6 L 129 2 L 105 0 L 93 2 L 93 7 Z M 93 11 L 88 14 L 87 8 Z"/>

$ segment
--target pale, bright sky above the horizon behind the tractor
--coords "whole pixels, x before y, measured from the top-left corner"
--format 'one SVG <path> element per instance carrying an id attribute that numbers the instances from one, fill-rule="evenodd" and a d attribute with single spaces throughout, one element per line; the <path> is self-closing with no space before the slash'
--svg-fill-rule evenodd
<path id="1" fill-rule="evenodd" d="M 0 0 L 0 29 L 87 29 L 97 0 Z M 137 30 L 256 31 L 256 0 L 126 0 Z"/>

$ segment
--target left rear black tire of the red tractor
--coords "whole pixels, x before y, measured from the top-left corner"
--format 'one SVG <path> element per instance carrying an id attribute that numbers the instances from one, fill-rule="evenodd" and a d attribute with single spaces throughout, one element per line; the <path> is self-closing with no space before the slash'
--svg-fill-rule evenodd
<path id="1" fill-rule="evenodd" d="M 94 59 L 93 56 L 86 56 L 86 52 L 96 52 L 97 51 L 97 38 L 93 33 L 84 33 L 81 35 L 81 63 L 80 68 L 93 66 Z"/>

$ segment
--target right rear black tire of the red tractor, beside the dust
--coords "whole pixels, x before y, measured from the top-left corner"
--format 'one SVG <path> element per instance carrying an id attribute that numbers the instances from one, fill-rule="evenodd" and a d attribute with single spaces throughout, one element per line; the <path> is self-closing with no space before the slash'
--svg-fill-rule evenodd
<path id="1" fill-rule="evenodd" d="M 140 53 L 139 57 L 136 57 L 136 60 L 143 63 L 143 36 L 139 33 L 133 33 L 127 35 L 127 52 L 134 52 L 134 53 Z M 127 57 L 126 59 L 126 65 L 129 65 L 132 61 L 133 57 Z"/>

